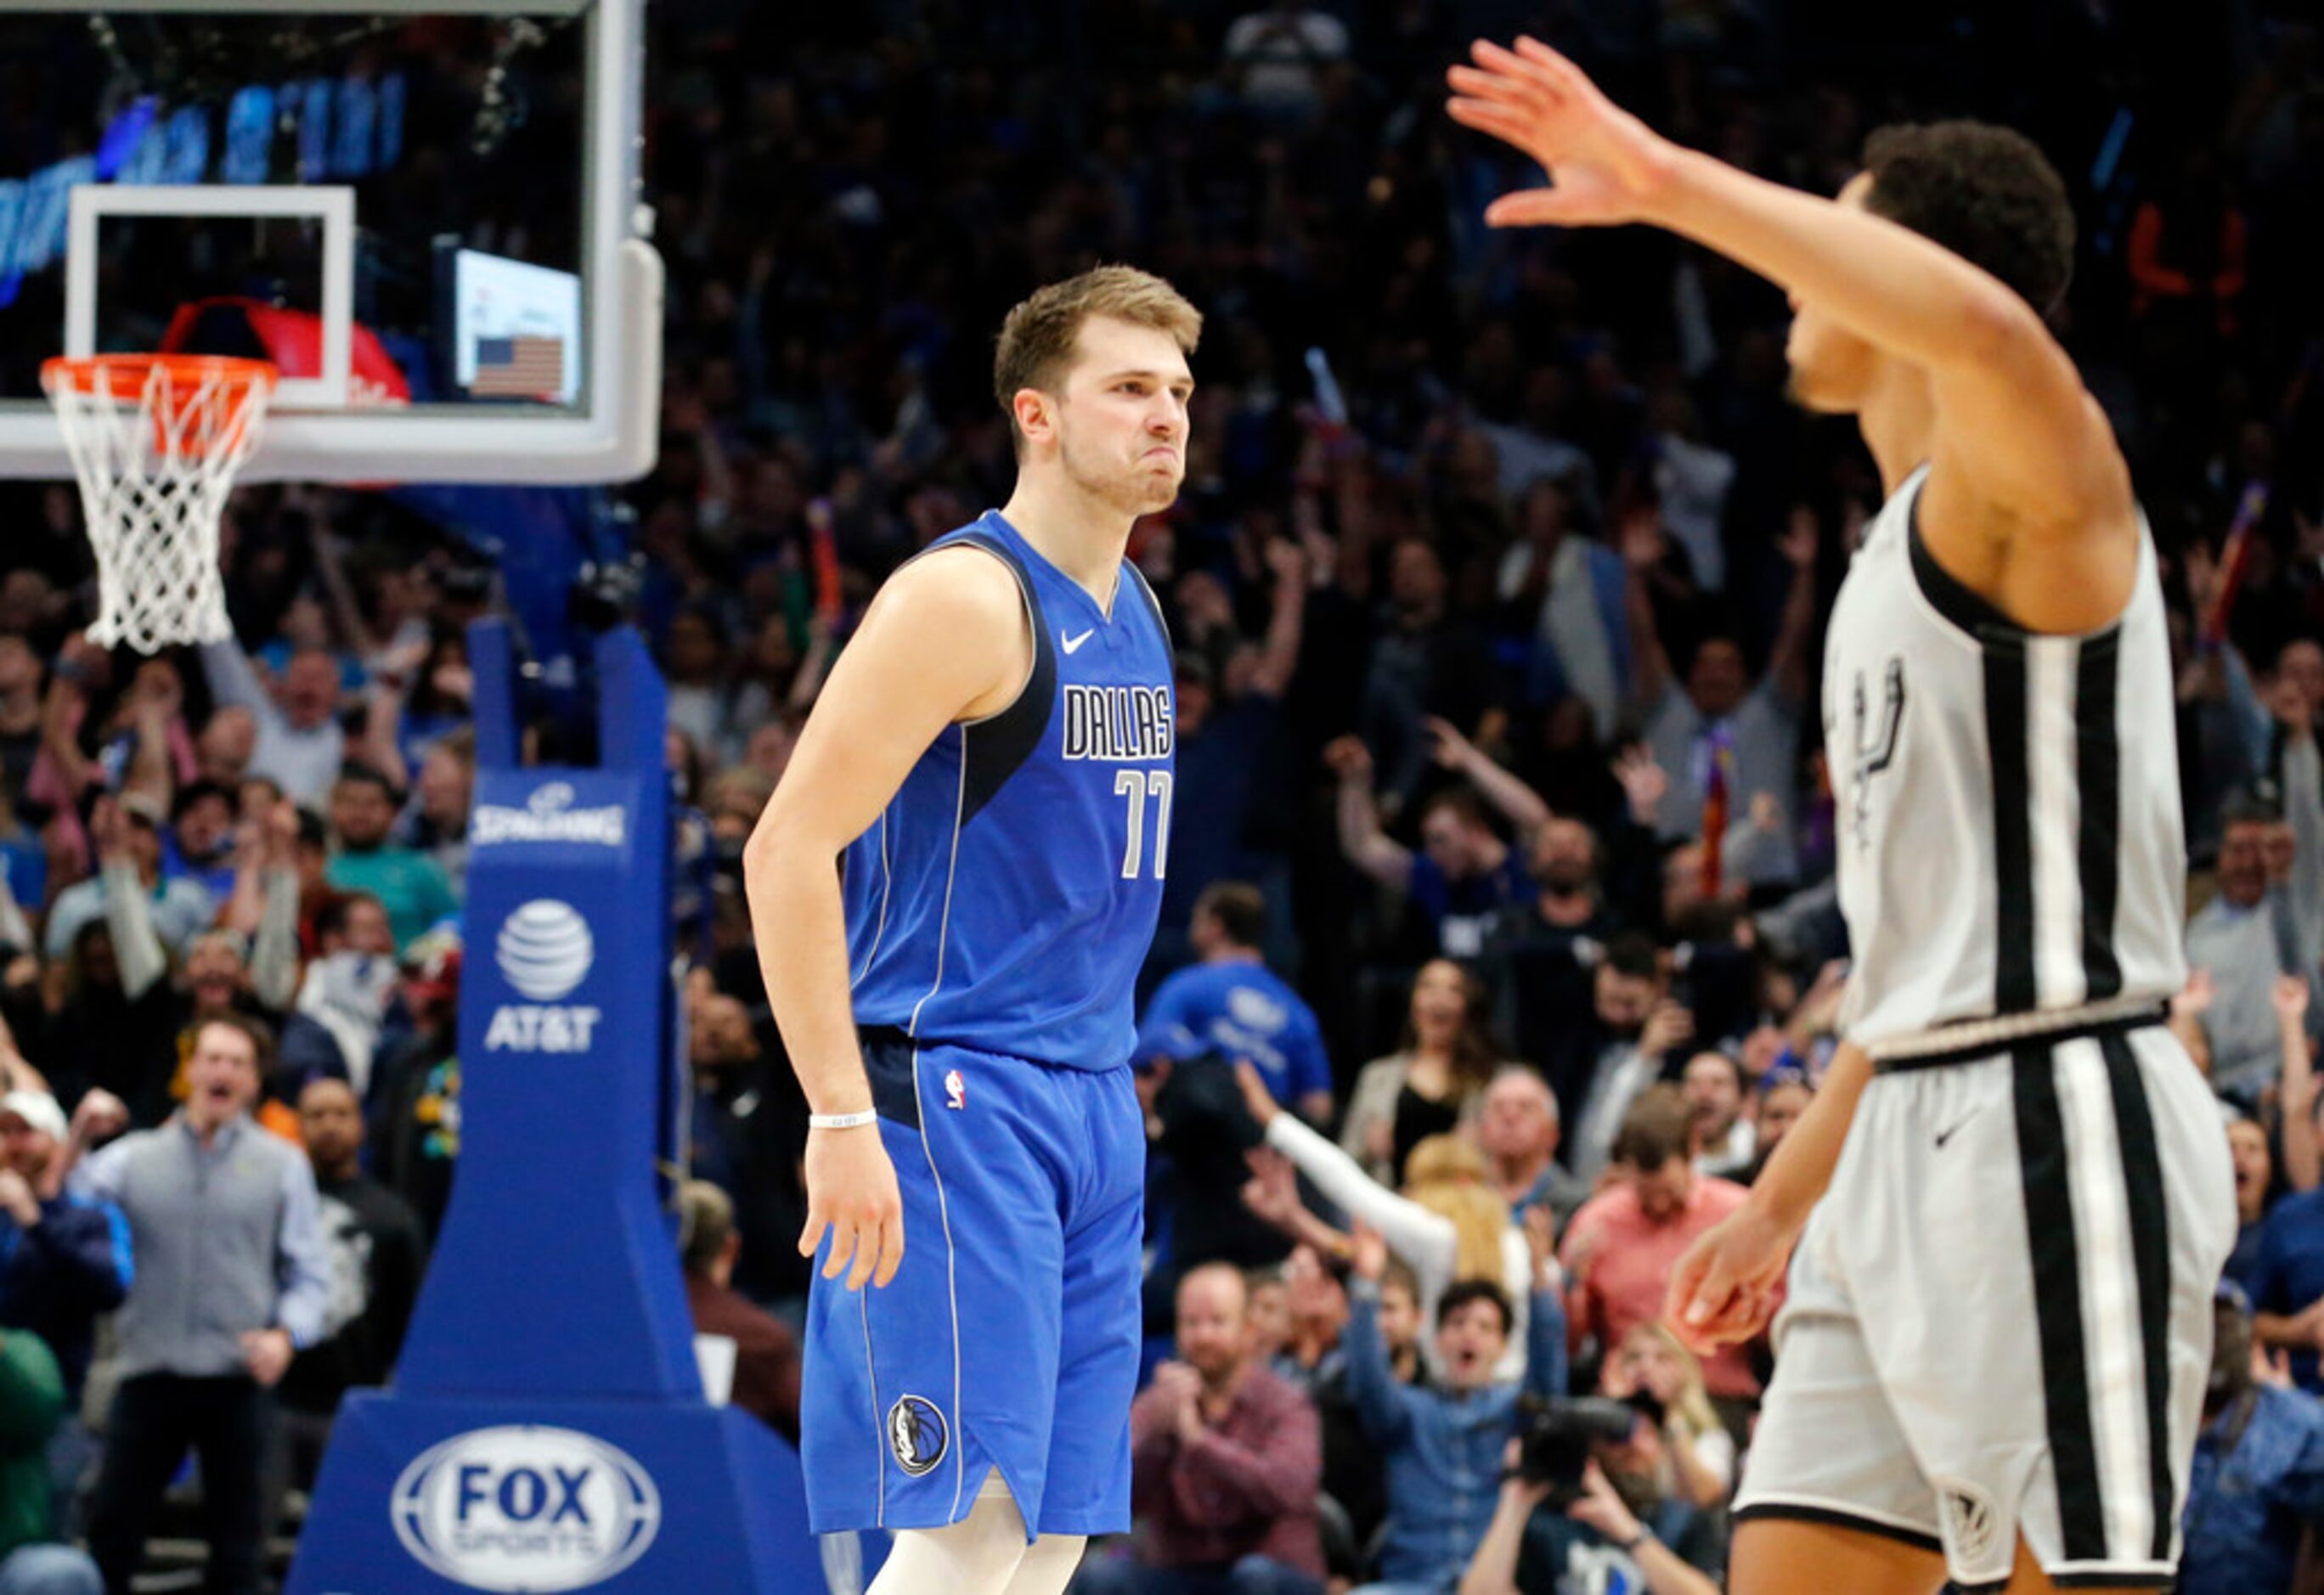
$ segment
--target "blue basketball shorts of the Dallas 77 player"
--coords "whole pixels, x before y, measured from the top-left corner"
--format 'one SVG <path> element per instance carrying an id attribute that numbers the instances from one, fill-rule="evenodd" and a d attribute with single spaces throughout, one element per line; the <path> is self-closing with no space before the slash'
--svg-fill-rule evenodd
<path id="1" fill-rule="evenodd" d="M 1146 1118 L 1129 1070 L 867 1030 L 904 1263 L 806 1304 L 799 1460 L 818 1535 L 944 1528 L 999 1469 L 1027 1532 L 1129 1528 Z M 846 1135 L 865 1135 L 848 1130 Z"/>

